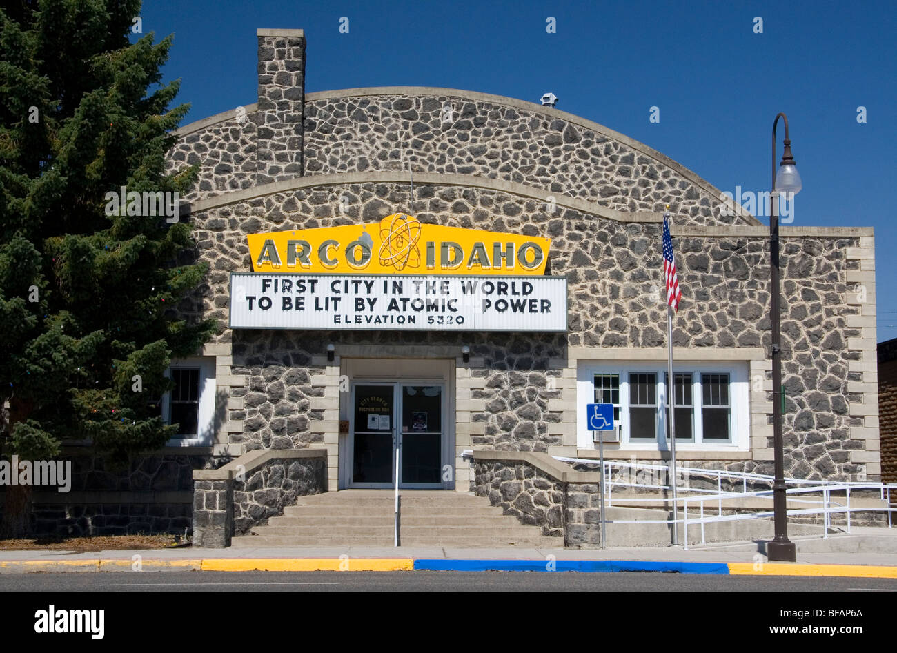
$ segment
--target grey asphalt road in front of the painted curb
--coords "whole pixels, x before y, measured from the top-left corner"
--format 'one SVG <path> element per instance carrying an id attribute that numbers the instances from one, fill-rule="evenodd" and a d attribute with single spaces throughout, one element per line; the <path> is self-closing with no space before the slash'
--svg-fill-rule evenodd
<path id="1" fill-rule="evenodd" d="M 897 591 L 897 579 L 520 571 L 163 571 L 0 574 L 0 592 Z"/>

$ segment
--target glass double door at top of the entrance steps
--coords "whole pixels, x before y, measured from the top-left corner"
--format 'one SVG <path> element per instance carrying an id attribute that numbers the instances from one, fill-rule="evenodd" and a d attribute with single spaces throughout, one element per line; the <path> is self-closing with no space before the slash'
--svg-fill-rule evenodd
<path id="1" fill-rule="evenodd" d="M 356 383 L 352 406 L 353 487 L 442 486 L 444 387 L 427 383 Z"/>

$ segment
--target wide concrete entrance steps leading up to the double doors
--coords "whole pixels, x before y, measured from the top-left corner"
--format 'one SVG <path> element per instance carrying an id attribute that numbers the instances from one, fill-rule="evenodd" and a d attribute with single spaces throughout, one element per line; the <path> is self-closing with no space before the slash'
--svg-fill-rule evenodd
<path id="1" fill-rule="evenodd" d="M 503 515 L 485 497 L 447 490 L 403 490 L 403 546 L 562 547 L 562 537 L 542 535 Z M 268 526 L 234 537 L 231 546 L 392 546 L 395 491 L 342 490 L 300 497 Z"/>

